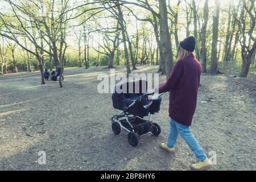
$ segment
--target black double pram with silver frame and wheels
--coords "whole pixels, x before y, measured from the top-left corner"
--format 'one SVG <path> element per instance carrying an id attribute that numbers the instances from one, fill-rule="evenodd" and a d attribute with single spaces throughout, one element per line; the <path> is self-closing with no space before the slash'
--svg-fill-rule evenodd
<path id="1" fill-rule="evenodd" d="M 113 107 L 122 110 L 119 114 L 113 115 L 112 130 L 114 134 L 119 134 L 121 128 L 128 131 L 128 142 L 131 146 L 137 146 L 139 137 L 151 131 L 154 135 L 161 132 L 160 126 L 151 120 L 152 114 L 158 113 L 162 98 L 147 93 L 147 81 L 137 80 L 125 82 L 115 86 L 112 94 Z M 143 119 L 149 115 L 149 119 Z"/>

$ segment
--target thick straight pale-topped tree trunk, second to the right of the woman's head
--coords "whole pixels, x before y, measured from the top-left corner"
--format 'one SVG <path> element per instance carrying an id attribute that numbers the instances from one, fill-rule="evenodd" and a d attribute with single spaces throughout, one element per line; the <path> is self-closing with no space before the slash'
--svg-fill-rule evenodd
<path id="1" fill-rule="evenodd" d="M 214 13 L 213 13 L 213 27 L 212 27 L 212 54 L 210 60 L 209 73 L 217 74 L 218 60 L 217 60 L 217 43 L 218 43 L 218 17 L 220 14 L 220 0 L 215 0 Z"/>

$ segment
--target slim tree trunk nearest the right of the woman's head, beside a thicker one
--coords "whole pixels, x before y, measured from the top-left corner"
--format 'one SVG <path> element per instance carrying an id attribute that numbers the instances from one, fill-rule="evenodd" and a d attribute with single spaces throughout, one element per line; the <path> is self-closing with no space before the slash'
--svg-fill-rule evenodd
<path id="1" fill-rule="evenodd" d="M 207 72 L 207 50 L 206 50 L 206 33 L 207 33 L 207 23 L 208 23 L 208 0 L 204 3 L 204 22 L 201 30 L 201 51 L 200 51 L 200 62 L 202 64 L 203 73 Z"/>

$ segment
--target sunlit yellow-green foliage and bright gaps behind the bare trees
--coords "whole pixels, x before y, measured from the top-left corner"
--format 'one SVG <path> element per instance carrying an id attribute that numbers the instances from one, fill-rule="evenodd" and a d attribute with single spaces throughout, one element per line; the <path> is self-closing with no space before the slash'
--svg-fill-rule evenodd
<path id="1" fill-rule="evenodd" d="M 26 30 L 29 31 L 30 34 L 35 34 L 35 38 L 36 38 L 36 42 L 40 42 L 40 36 L 39 36 L 39 32 L 43 32 L 44 34 L 44 38 L 45 40 L 43 40 L 43 47 L 48 50 L 48 37 L 46 36 L 47 30 L 46 30 L 46 26 L 43 26 L 42 21 L 39 20 L 40 18 L 42 18 L 42 16 L 39 14 L 39 10 L 40 7 L 37 6 L 40 4 L 40 2 L 44 3 L 44 11 L 46 11 L 47 14 L 47 18 L 46 18 L 46 23 L 48 25 L 48 27 L 51 29 L 51 1 L 25 1 L 22 0 L 20 1 L 14 1 L 15 3 L 18 3 L 18 5 L 20 5 L 22 8 L 24 8 L 24 10 L 26 10 L 26 12 L 21 12 L 20 10 L 18 10 L 17 8 L 15 8 L 15 10 L 19 13 L 19 16 L 22 16 L 23 18 L 21 19 L 21 21 L 24 23 L 24 26 L 27 27 Z M 61 1 L 55 1 L 55 9 L 56 11 L 53 12 L 53 22 L 55 23 L 55 28 L 56 30 L 59 31 L 60 28 L 60 24 L 57 23 L 57 19 L 59 18 L 59 9 L 57 9 L 57 7 L 60 7 L 60 2 Z M 93 1 L 85 1 L 87 2 L 93 2 Z M 154 9 L 156 12 L 158 12 L 158 1 L 149 1 L 152 6 L 152 9 Z M 204 1 L 203 1 L 204 2 Z M 209 1 L 210 2 L 210 1 Z M 246 0 L 246 5 L 247 7 L 251 7 L 251 3 L 255 3 L 255 1 L 248 1 Z M 190 9 L 189 3 L 190 1 L 181 1 L 181 4 L 179 5 L 179 7 L 176 5 L 176 2 L 174 1 L 170 1 L 171 3 L 171 9 L 174 11 L 174 13 L 178 13 L 177 16 L 177 24 L 174 23 L 174 17 L 171 14 L 171 10 L 168 9 L 168 19 L 169 19 L 169 30 L 171 32 L 171 42 L 172 42 L 172 51 L 174 53 L 174 61 L 176 60 L 176 55 L 177 55 L 177 48 L 176 48 L 176 44 L 175 44 L 175 27 L 177 27 L 177 36 L 178 36 L 178 42 L 180 42 L 182 39 L 185 38 L 186 35 L 186 31 L 188 29 L 188 32 L 190 35 L 194 34 L 194 30 L 193 30 L 193 13 L 192 14 L 188 14 L 187 17 L 187 11 L 184 11 L 186 8 L 186 6 L 188 7 L 188 10 Z M 203 3 L 201 3 L 199 1 L 196 1 L 196 7 L 197 7 L 197 32 L 198 32 L 198 36 L 199 36 L 199 40 L 197 40 L 197 46 L 199 47 L 199 51 L 201 48 L 201 42 L 200 42 L 200 33 L 201 33 L 201 26 L 203 24 Z M 242 40 L 242 30 L 245 30 L 245 33 L 247 31 L 250 30 L 251 25 L 253 24 L 253 22 L 251 22 L 249 13 L 245 10 L 242 11 L 241 9 L 241 3 L 242 1 L 237 1 L 236 3 L 232 4 L 234 7 L 232 9 L 232 11 L 229 13 L 229 9 L 228 9 L 228 1 L 223 1 L 222 5 L 221 5 L 221 11 L 220 11 L 220 21 L 218 24 L 218 48 L 217 48 L 217 53 L 218 53 L 218 57 L 220 58 L 218 60 L 218 64 L 220 65 L 220 67 L 222 68 L 222 64 L 224 65 L 224 63 L 222 63 L 223 57 L 224 57 L 224 53 L 225 53 L 225 39 L 227 37 L 227 35 L 230 34 L 230 32 L 233 32 L 233 38 L 231 41 L 231 46 L 233 46 L 234 44 L 234 39 L 236 36 L 236 32 L 238 32 L 239 34 L 239 39 L 240 41 Z M 207 25 L 207 34 L 206 34 L 206 52 L 207 52 L 207 67 L 209 67 L 209 62 L 210 62 L 210 56 L 211 56 L 211 49 L 212 49 L 212 12 L 213 12 L 213 4 L 214 3 L 209 3 L 209 20 L 208 20 L 208 25 Z M 95 7 L 97 6 L 102 6 L 101 3 L 91 3 L 88 4 L 86 6 L 80 6 L 79 8 L 77 8 L 76 10 L 70 12 L 73 13 L 73 15 L 79 15 L 77 16 L 77 18 L 72 19 L 71 21 L 68 22 L 67 25 L 64 26 L 74 26 L 74 31 L 80 30 L 80 32 L 82 32 L 82 38 L 81 40 L 81 51 L 84 51 L 84 35 L 86 35 L 86 42 L 85 44 L 89 45 L 89 64 L 90 66 L 95 66 L 97 65 L 97 60 L 98 60 L 98 53 L 97 51 L 95 51 L 95 49 L 98 49 L 98 45 L 97 43 L 100 43 L 102 47 L 105 47 L 104 43 L 102 43 L 102 36 L 109 36 L 110 40 L 114 39 L 114 35 L 115 33 L 112 32 L 113 30 L 111 28 L 116 26 L 117 20 L 113 17 L 113 15 L 111 13 L 109 13 L 109 11 L 100 11 L 101 9 L 97 9 Z M 127 5 L 129 6 L 129 5 Z M 134 13 L 136 13 L 136 15 L 139 18 L 148 18 L 151 20 L 153 19 L 152 13 L 150 11 L 141 9 L 140 7 L 131 7 L 131 10 L 134 10 Z M 70 7 L 71 8 L 71 7 Z M 26 33 L 26 31 L 22 30 L 22 28 L 20 28 L 20 23 L 18 21 L 17 18 L 15 18 L 14 16 L 14 12 L 11 11 L 11 8 L 9 6 L 9 8 L 6 8 L 7 11 L 3 12 L 0 16 L 0 32 L 2 31 L 2 33 L 6 33 L 6 29 L 1 30 L 2 27 L 5 27 L 5 25 L 3 24 L 3 21 L 5 20 L 5 22 L 8 22 L 8 24 L 10 24 L 13 27 L 16 28 L 11 28 L 12 31 L 14 31 L 17 36 L 19 36 L 19 42 L 24 43 L 27 41 L 26 43 L 26 47 L 28 49 L 30 49 L 31 51 L 35 51 L 35 46 L 28 40 L 28 39 L 24 39 L 24 37 L 26 36 L 22 36 L 23 34 L 26 35 L 28 33 Z M 10 11 L 8 11 L 10 10 Z M 131 15 L 131 13 L 129 13 L 129 10 L 127 10 L 125 7 L 122 7 L 123 14 L 124 14 L 124 18 L 125 18 L 125 22 L 126 22 L 126 28 L 127 28 L 127 34 L 129 35 L 129 38 L 132 42 L 132 47 L 133 47 L 133 51 L 135 52 L 136 47 L 135 45 L 137 45 L 136 40 L 137 40 L 137 36 L 138 36 L 138 57 L 137 57 L 137 63 L 140 64 L 141 63 L 141 59 L 142 57 L 147 57 L 147 59 L 144 59 L 144 61 L 146 61 L 146 64 L 150 64 L 150 60 L 151 60 L 151 56 L 150 53 L 152 51 L 152 49 L 154 49 L 154 51 L 156 50 L 156 38 L 155 38 L 155 34 L 154 34 L 154 28 L 152 27 L 152 24 L 148 21 L 140 21 L 140 20 L 136 20 L 136 18 Z M 251 9 L 251 11 L 254 12 L 255 7 L 253 9 Z M 136 12 L 135 12 L 136 11 Z M 190 11 L 190 10 L 189 10 Z M 97 13 L 98 12 L 98 13 Z M 97 14 L 94 14 L 97 13 Z M 232 22 L 234 21 L 234 15 L 235 13 L 237 13 L 236 15 L 236 26 L 233 28 L 234 31 L 231 31 L 232 29 Z M 241 15 L 245 16 L 245 27 L 241 27 L 243 24 L 241 24 L 241 26 L 238 26 L 239 22 L 241 21 Z M 5 15 L 5 16 L 3 16 Z M 92 17 L 90 17 L 91 15 L 93 15 Z M 190 26 L 187 26 L 187 22 L 189 21 L 189 17 L 190 18 Z M 90 19 L 87 19 L 89 18 Z M 29 21 L 27 21 L 27 19 L 32 18 L 32 20 L 35 20 L 36 23 L 38 23 L 38 26 L 40 27 L 38 30 L 36 28 L 31 28 L 31 24 Z M 187 19 L 188 18 L 188 19 Z M 228 31 L 228 18 L 231 20 L 230 23 L 230 30 Z M 85 21 L 86 20 L 86 21 Z M 158 20 L 156 20 L 158 22 Z M 40 23 L 41 22 L 41 23 Z M 136 24 L 135 24 L 136 23 Z M 159 22 L 158 22 L 159 23 Z M 77 24 L 80 24 L 80 26 L 77 26 Z M 112 26 L 112 24 L 114 24 L 114 26 Z M 11 27 L 11 26 L 7 26 L 7 27 Z M 34 24 L 35 27 L 35 24 Z M 110 28 L 109 30 L 107 28 Z M 138 28 L 138 31 L 137 31 Z M 102 29 L 101 31 L 98 31 L 99 29 Z M 70 31 L 69 31 L 70 30 Z M 74 37 L 72 37 L 72 28 L 69 29 L 67 28 L 67 34 L 65 34 L 65 36 L 67 36 L 67 51 L 65 53 L 65 58 L 64 58 L 64 65 L 65 67 L 78 67 L 79 66 L 79 53 L 78 53 L 78 46 L 77 44 L 74 45 L 74 40 L 72 40 Z M 84 34 L 85 33 L 85 34 Z M 253 36 L 255 37 L 255 28 L 253 30 Z M 11 34 L 8 34 L 11 35 Z M 59 34 L 56 34 L 59 35 Z M 52 35 L 53 37 L 55 36 Z M 248 39 L 249 37 L 247 37 L 247 35 L 245 36 L 246 39 Z M 56 36 L 57 39 L 57 48 L 59 48 L 59 44 L 60 44 L 60 36 Z M 88 39 L 89 38 L 89 39 Z M 24 40 L 23 40 L 24 39 Z M 119 42 L 122 41 L 122 36 L 119 36 Z M 1 40 L 1 37 L 0 37 Z M 9 40 L 10 44 L 14 43 L 13 41 Z M 2 43 L 2 42 L 0 42 Z M 7 47 L 7 45 L 9 44 L 7 42 L 3 43 L 2 45 L 5 46 L 5 48 Z M 112 47 L 110 43 L 110 48 Z M 249 43 L 248 40 L 246 40 L 245 42 L 246 44 Z M 39 43 L 40 44 L 40 43 Z M 73 45 L 72 45 L 73 44 Z M 95 49 L 93 49 L 91 46 L 93 46 Z M 246 45 L 247 46 L 247 45 Z M 250 45 L 251 46 L 251 43 Z M 100 47 L 100 51 L 104 52 L 103 48 Z M 242 63 L 242 56 L 241 56 L 241 44 L 240 42 L 238 42 L 236 44 L 236 46 L 234 46 L 236 49 L 234 49 L 234 53 L 235 55 L 234 60 L 232 61 L 232 64 L 234 65 L 230 65 L 230 67 L 236 67 L 238 72 L 239 72 L 239 68 L 241 67 L 241 63 Z M 21 48 L 16 48 L 14 56 L 15 59 L 13 59 L 13 56 L 11 54 L 10 49 L 7 50 L 6 53 L 6 60 L 7 60 L 7 65 L 9 67 L 9 69 L 13 69 L 14 64 L 16 63 L 18 65 L 18 69 L 19 71 L 22 70 L 26 70 L 26 64 L 27 63 L 27 52 L 26 51 L 20 51 Z M 231 48 L 232 51 L 233 47 Z M 145 51 L 146 51 L 146 56 L 145 56 Z M 58 50 L 58 52 L 61 52 Z M 87 53 L 87 52 L 86 52 Z M 130 54 L 130 53 L 129 53 Z M 200 54 L 200 53 L 199 53 Z M 44 51 L 44 63 L 45 63 L 45 67 L 49 68 L 50 67 L 50 57 L 47 53 L 47 51 Z M 130 56 L 130 55 L 129 55 Z M 134 53 L 134 59 L 135 59 L 135 53 Z M 129 57 L 130 58 L 130 57 Z M 197 57 L 197 59 L 199 59 L 200 57 Z M 84 63 L 85 63 L 85 59 L 84 59 L 84 52 L 82 52 L 82 66 L 84 67 Z M 119 65 L 125 65 L 125 53 L 123 51 L 123 44 L 121 43 L 119 45 Z M 156 60 L 156 52 L 154 54 L 154 61 Z M 0 64 L 1 64 L 1 57 L 0 57 Z M 36 58 L 35 56 L 32 56 L 31 59 L 31 68 L 32 70 L 35 70 L 36 68 Z M 100 57 L 99 57 L 99 65 L 109 65 L 109 57 L 101 54 L 100 53 Z M 52 63 L 54 64 L 55 61 L 52 59 Z M 115 51 L 115 55 L 114 55 L 114 65 L 117 64 L 117 51 Z M 224 67 L 224 66 L 223 66 Z M 254 65 L 252 65 L 251 67 L 254 67 Z"/>

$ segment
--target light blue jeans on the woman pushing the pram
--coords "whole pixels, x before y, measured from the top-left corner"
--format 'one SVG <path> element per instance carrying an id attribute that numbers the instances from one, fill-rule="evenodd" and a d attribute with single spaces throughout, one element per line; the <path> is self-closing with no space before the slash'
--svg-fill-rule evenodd
<path id="1" fill-rule="evenodd" d="M 177 137 L 180 134 L 180 136 L 187 142 L 188 146 L 196 155 L 197 160 L 203 161 L 207 158 L 203 148 L 200 146 L 199 142 L 197 142 L 195 136 L 191 133 L 189 126 L 181 125 L 172 118 L 170 120 L 170 125 L 171 132 L 167 142 L 167 146 L 169 148 L 174 147 Z"/>

